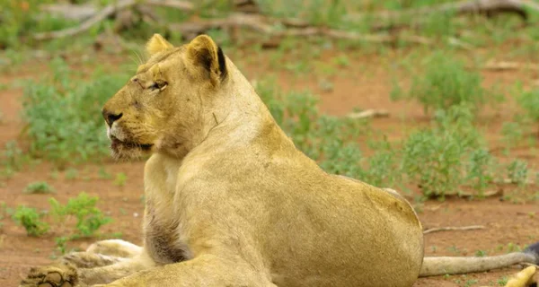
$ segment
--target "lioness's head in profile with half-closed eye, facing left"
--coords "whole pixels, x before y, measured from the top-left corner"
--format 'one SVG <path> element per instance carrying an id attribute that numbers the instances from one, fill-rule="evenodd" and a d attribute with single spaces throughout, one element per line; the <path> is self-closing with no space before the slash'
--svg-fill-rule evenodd
<path id="1" fill-rule="evenodd" d="M 218 106 L 234 82 L 227 59 L 205 35 L 174 47 L 155 34 L 146 49 L 148 61 L 102 109 L 110 147 L 116 158 L 182 157 L 226 116 Z"/>

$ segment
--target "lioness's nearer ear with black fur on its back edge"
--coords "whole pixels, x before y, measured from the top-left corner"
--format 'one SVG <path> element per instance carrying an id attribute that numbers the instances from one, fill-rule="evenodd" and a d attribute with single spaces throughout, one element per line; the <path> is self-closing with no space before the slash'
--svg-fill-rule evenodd
<path id="1" fill-rule="evenodd" d="M 200 35 L 187 45 L 187 59 L 196 73 L 208 77 L 216 85 L 226 78 L 225 55 L 213 39 Z"/>

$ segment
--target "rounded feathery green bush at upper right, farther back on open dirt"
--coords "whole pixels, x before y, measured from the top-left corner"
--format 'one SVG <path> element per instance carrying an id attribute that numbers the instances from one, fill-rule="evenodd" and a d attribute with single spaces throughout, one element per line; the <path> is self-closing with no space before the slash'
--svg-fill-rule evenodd
<path id="1" fill-rule="evenodd" d="M 503 99 L 495 91 L 483 89 L 481 75 L 468 71 L 463 61 L 446 52 L 435 52 L 428 57 L 424 74 L 414 73 L 409 91 L 402 91 L 393 81 L 391 96 L 393 100 L 418 100 L 426 113 L 461 104 L 475 109 Z"/>

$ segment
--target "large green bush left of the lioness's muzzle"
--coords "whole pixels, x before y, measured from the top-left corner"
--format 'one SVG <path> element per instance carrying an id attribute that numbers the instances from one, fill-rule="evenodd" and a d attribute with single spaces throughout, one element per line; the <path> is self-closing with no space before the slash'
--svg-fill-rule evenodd
<path id="1" fill-rule="evenodd" d="M 63 60 L 50 63 L 52 75 L 25 85 L 22 97 L 31 155 L 60 165 L 107 155 L 102 105 L 127 77 L 97 71 L 91 82 L 84 82 Z"/>

